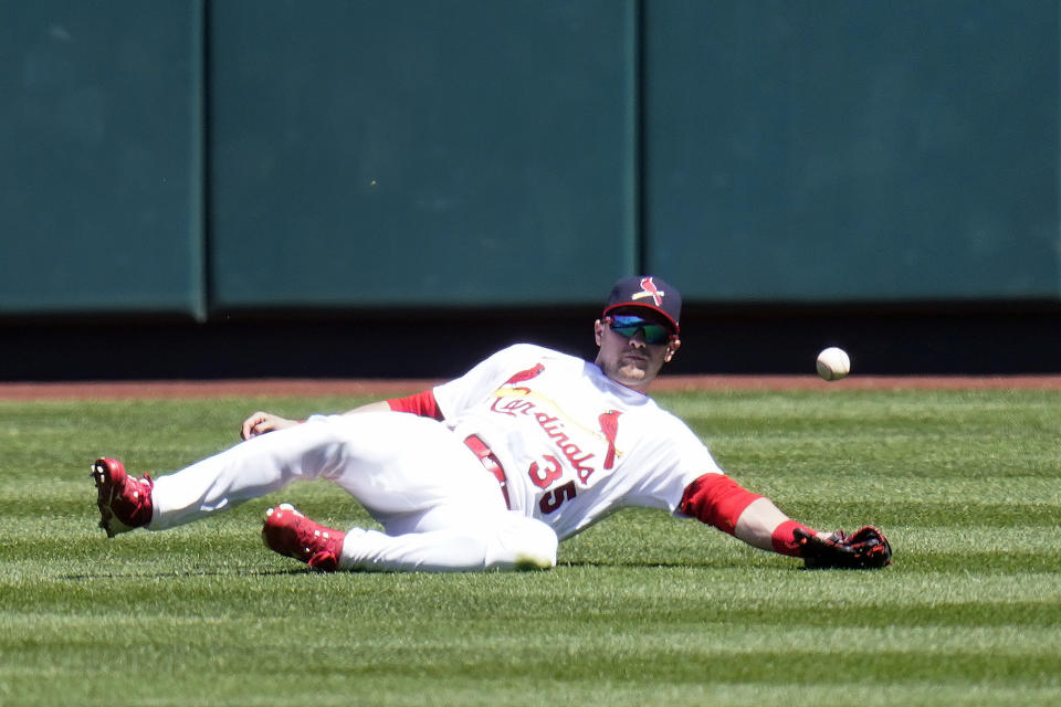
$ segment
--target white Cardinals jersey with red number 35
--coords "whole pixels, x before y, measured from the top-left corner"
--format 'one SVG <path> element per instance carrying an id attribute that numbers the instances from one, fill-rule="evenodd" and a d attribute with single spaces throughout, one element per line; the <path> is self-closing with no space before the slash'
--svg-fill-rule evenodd
<path id="1" fill-rule="evenodd" d="M 512 346 L 433 392 L 447 424 L 497 456 L 512 509 L 560 539 L 624 506 L 675 513 L 690 483 L 721 473 L 651 398 L 550 349 Z"/>

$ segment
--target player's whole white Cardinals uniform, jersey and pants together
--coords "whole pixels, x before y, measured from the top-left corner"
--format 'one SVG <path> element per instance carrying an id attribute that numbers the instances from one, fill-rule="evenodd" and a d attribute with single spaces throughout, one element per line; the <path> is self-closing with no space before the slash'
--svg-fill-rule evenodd
<path id="1" fill-rule="evenodd" d="M 624 506 L 676 513 L 694 479 L 721 474 L 681 420 L 550 349 L 510 347 L 432 392 L 441 422 L 314 415 L 162 476 L 149 528 L 327 478 L 385 530 L 351 529 L 342 569 L 549 567 L 558 539 Z"/>

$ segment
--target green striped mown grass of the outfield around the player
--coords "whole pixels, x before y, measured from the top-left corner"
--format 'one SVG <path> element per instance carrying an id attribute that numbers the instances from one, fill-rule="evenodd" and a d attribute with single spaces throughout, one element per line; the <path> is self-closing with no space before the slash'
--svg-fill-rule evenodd
<path id="1" fill-rule="evenodd" d="M 889 534 L 880 572 L 809 572 L 622 511 L 549 572 L 317 574 L 262 545 L 325 483 L 108 541 L 90 463 L 162 473 L 255 409 L 354 399 L 0 402 L 2 705 L 1058 705 L 1061 393 L 660 394 L 799 520 Z"/>

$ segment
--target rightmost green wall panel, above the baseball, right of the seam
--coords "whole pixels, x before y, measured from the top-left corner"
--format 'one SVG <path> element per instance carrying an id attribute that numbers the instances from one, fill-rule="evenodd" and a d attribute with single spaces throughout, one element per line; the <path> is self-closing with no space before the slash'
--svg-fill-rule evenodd
<path id="1" fill-rule="evenodd" d="M 1057 2 L 647 8 L 650 268 L 713 302 L 1058 298 Z"/>

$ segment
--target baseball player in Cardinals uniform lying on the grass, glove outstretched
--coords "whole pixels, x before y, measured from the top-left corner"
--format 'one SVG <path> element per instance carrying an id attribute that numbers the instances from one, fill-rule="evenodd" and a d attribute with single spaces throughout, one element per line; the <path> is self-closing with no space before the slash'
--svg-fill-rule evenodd
<path id="1" fill-rule="evenodd" d="M 249 416 L 243 442 L 151 479 L 93 465 L 108 537 L 165 530 L 325 478 L 382 531 L 326 528 L 271 508 L 265 544 L 318 570 L 547 569 L 557 545 L 628 506 L 696 518 L 808 567 L 879 568 L 884 536 L 801 525 L 716 465 L 677 418 L 645 394 L 681 347 L 681 295 L 659 277 L 616 283 L 593 324 L 590 362 L 519 344 L 408 398 L 293 421 Z"/>

